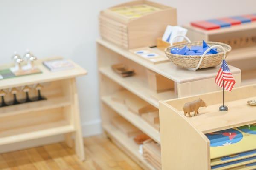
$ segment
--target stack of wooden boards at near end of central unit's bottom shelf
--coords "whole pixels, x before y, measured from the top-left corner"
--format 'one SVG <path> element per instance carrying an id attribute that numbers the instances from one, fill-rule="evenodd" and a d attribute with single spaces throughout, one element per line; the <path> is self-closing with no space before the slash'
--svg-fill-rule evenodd
<path id="1" fill-rule="evenodd" d="M 157 170 L 161 170 L 161 147 L 160 144 L 149 139 L 143 142 L 143 156 Z"/>

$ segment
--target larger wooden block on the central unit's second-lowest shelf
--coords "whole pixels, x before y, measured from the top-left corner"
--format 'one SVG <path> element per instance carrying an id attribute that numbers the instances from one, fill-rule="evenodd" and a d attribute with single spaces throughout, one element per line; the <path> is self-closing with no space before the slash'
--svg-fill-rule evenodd
<path id="1" fill-rule="evenodd" d="M 129 111 L 136 114 L 143 114 L 150 111 L 157 111 L 158 109 L 154 106 L 148 104 L 140 97 L 136 95 L 131 95 L 129 98 L 125 99 L 125 105 L 128 107 Z"/>

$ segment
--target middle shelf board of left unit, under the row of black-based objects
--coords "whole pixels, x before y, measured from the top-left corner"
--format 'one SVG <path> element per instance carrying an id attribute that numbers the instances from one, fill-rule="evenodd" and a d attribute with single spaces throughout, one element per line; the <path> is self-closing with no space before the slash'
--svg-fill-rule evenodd
<path id="1" fill-rule="evenodd" d="M 4 116 L 12 116 L 32 111 L 40 111 L 45 109 L 60 108 L 70 105 L 70 100 L 64 97 L 48 98 L 47 100 L 23 103 L 0 108 L 0 118 Z"/>

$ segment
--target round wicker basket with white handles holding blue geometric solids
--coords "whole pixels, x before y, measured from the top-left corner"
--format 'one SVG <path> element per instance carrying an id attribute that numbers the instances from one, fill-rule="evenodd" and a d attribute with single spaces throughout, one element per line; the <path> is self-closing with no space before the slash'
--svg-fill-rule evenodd
<path id="1" fill-rule="evenodd" d="M 208 54 L 208 55 L 198 55 L 198 56 L 192 56 L 192 55 L 178 55 L 178 54 L 172 54 L 171 48 L 183 48 L 185 45 L 187 47 L 191 48 L 191 46 L 195 45 L 202 45 L 202 42 L 185 42 L 178 45 L 171 45 L 170 47 L 165 49 L 166 56 L 177 66 L 183 67 L 183 68 L 189 68 L 191 70 L 197 70 L 198 68 L 209 68 L 209 67 L 215 67 L 219 65 L 222 61 L 222 59 L 225 59 L 227 55 L 231 51 L 230 45 L 221 43 L 221 42 L 210 42 L 208 41 L 207 44 L 209 47 L 212 47 L 214 45 L 217 45 L 216 47 L 223 47 L 221 49 L 217 49 L 219 52 L 218 54 Z M 220 46 L 219 46 L 220 45 Z M 223 52 L 223 49 L 225 49 L 225 52 Z M 225 55 L 226 54 L 226 55 Z M 203 59 L 201 60 L 201 57 Z M 201 63 L 200 63 L 201 60 Z M 200 63 L 200 65 L 199 65 Z"/>

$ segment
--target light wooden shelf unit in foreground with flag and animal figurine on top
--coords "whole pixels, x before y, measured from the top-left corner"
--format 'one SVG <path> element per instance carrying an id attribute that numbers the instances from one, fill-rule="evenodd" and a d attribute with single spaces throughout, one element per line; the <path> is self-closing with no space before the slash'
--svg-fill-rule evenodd
<path id="1" fill-rule="evenodd" d="M 225 92 L 227 112 L 218 111 L 222 104 L 222 91 L 160 101 L 163 170 L 210 170 L 210 159 L 215 155 L 211 153 L 213 150 L 205 134 L 256 123 L 256 107 L 247 105 L 247 101 L 255 97 L 256 84 Z M 184 116 L 183 105 L 198 98 L 203 99 L 208 107 L 200 108 L 198 116 Z M 235 149 L 236 145 L 232 147 Z M 256 149 L 256 145 L 249 147 Z"/>

